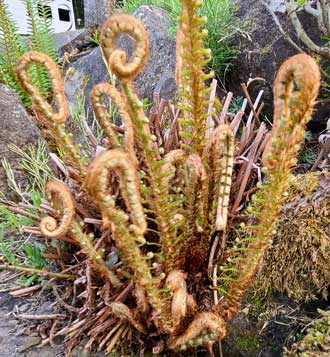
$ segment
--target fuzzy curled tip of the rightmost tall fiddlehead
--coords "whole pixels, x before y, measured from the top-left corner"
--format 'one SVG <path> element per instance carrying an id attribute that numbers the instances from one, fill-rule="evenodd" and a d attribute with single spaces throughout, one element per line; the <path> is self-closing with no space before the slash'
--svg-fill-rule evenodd
<path id="1" fill-rule="evenodd" d="M 288 163 L 285 160 L 288 151 L 298 151 L 298 147 L 294 147 L 293 144 L 300 141 L 304 135 L 305 125 L 312 114 L 319 86 L 320 71 L 312 57 L 298 54 L 281 66 L 274 82 L 272 137 L 263 155 L 264 165 L 267 168 L 276 167 L 275 160 L 279 157 L 283 163 Z M 287 128 L 285 131 L 283 126 Z M 282 135 L 280 140 L 279 133 Z M 290 162 L 291 166 L 293 164 L 294 162 Z"/>

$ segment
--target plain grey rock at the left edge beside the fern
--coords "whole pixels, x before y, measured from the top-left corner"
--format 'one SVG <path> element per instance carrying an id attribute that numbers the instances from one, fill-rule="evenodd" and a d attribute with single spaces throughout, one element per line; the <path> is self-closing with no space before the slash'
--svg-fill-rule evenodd
<path id="1" fill-rule="evenodd" d="M 18 94 L 3 84 L 0 84 L 0 118 L 0 157 L 10 163 L 17 183 L 24 189 L 28 183 L 27 175 L 20 167 L 19 157 L 9 150 L 8 145 L 15 144 L 24 150 L 30 144 L 37 144 L 40 132 L 30 121 Z M 14 198 L 13 192 L 8 187 L 2 165 L 0 166 L 0 191 L 7 197 Z"/>

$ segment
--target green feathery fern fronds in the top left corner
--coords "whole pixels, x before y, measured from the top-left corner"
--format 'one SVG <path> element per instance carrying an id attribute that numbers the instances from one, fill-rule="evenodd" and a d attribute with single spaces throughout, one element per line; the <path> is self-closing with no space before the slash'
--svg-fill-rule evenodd
<path id="1" fill-rule="evenodd" d="M 48 19 L 47 1 L 38 2 L 24 0 L 28 16 L 28 25 L 31 35 L 24 39 L 17 34 L 14 21 L 3 0 L 0 0 L 0 82 L 14 89 L 21 97 L 26 107 L 31 105 L 31 101 L 26 93 L 19 86 L 15 67 L 18 58 L 33 49 L 47 53 L 53 60 L 57 61 L 57 53 L 54 47 L 50 20 Z M 30 69 L 33 83 L 41 88 L 44 96 L 51 97 L 51 84 L 44 68 L 34 65 Z"/>

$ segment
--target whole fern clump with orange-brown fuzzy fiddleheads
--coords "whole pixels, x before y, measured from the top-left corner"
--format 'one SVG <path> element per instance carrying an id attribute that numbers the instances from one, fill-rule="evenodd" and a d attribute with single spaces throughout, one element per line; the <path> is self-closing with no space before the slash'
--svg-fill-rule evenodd
<path id="1" fill-rule="evenodd" d="M 20 84 L 66 154 L 68 184 L 47 183 L 45 192 L 52 208 L 46 209 L 38 233 L 52 240 L 69 239 L 87 257 L 86 306 L 76 325 L 58 332 L 70 331 L 68 349 L 86 331 L 90 336 L 86 348 L 99 341 L 99 348 L 109 352 L 132 328 L 145 339 L 151 332 L 160 336 L 170 350 L 211 348 L 226 336 L 227 323 L 252 284 L 267 248 L 318 94 L 319 69 L 307 55 L 297 55 L 280 68 L 274 85 L 274 127 L 264 152 L 266 182 L 247 210 L 254 218 L 250 236 L 224 247 L 218 261 L 211 261 L 211 271 L 219 275 L 215 289 L 222 295 L 220 301 L 217 296 L 212 302 L 207 258 L 213 239 L 224 237 L 230 228 L 235 141 L 228 124 L 217 125 L 211 135 L 207 131 L 210 89 L 204 82 L 210 75 L 203 68 L 210 51 L 203 47 L 206 32 L 202 30 L 205 19 L 198 15 L 200 6 L 200 1 L 182 0 L 177 35 L 181 142 L 167 153 L 152 134 L 133 85 L 149 50 L 148 34 L 134 17 L 114 15 L 101 31 L 104 58 L 121 89 L 101 83 L 90 94 L 107 148 L 89 166 L 65 132 L 67 104 L 54 61 L 36 51 L 18 61 Z M 122 33 L 135 41 L 130 59 L 115 45 Z M 48 72 L 54 105 L 33 84 L 29 68 L 34 64 L 44 65 Z M 118 131 L 109 120 L 108 100 L 117 107 L 124 130 Z M 114 251 L 120 254 L 119 266 L 109 264 Z M 97 280 L 102 282 L 94 294 L 92 281 Z M 154 346 L 154 352 L 159 349 L 161 343 Z"/>

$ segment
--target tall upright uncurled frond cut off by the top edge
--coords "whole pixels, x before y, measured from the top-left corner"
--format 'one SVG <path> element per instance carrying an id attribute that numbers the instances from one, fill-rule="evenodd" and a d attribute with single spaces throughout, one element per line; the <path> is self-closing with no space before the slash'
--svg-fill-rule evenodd
<path id="1" fill-rule="evenodd" d="M 213 73 L 205 74 L 204 67 L 211 59 L 211 51 L 203 47 L 207 30 L 202 30 L 206 18 L 198 15 L 202 2 L 199 0 L 182 0 L 182 12 L 177 33 L 177 78 L 180 85 L 182 142 L 193 153 L 202 155 L 207 127 L 205 119 L 206 95 L 205 80 Z"/>

